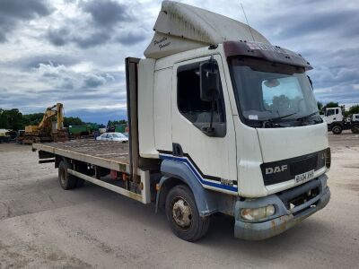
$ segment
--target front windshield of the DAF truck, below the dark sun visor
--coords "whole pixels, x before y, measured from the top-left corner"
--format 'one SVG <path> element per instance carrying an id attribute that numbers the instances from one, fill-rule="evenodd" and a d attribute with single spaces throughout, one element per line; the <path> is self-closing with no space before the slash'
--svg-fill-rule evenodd
<path id="1" fill-rule="evenodd" d="M 230 59 L 230 69 L 245 124 L 280 127 L 322 122 L 303 68 L 234 57 Z"/>

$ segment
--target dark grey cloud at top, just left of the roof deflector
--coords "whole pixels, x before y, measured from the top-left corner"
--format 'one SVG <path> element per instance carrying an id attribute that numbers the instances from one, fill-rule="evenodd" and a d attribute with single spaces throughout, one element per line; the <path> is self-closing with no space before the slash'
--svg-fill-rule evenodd
<path id="1" fill-rule="evenodd" d="M 136 21 L 130 14 L 130 7 L 125 4 L 92 0 L 79 2 L 74 8 L 81 18 L 68 18 L 61 26 L 48 28 L 46 37 L 52 45 L 63 47 L 74 44 L 79 48 L 109 43 L 133 45 L 147 37 L 146 32 L 136 25 L 132 30 L 123 29 L 123 23 Z"/>

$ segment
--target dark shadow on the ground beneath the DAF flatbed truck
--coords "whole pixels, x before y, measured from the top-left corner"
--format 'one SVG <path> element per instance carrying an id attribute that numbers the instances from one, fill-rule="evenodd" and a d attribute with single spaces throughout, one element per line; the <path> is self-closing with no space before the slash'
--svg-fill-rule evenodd
<path id="1" fill-rule="evenodd" d="M 286 230 L 271 239 L 260 241 L 248 241 L 243 239 L 236 239 L 233 236 L 234 219 L 231 216 L 224 214 L 215 214 L 211 217 L 211 226 L 205 238 L 200 239 L 195 243 L 188 243 L 178 239 L 170 229 L 167 223 L 166 216 L 163 211 L 154 213 L 154 204 L 140 204 L 125 196 L 113 195 L 112 192 L 103 190 L 101 187 L 87 186 L 83 190 L 91 189 L 92 195 L 99 191 L 99 195 L 106 195 L 109 192 L 110 196 L 104 197 L 103 205 L 106 205 L 107 210 L 118 215 L 122 214 L 133 221 L 141 221 L 147 230 L 156 230 L 162 233 L 163 237 L 171 239 L 171 241 L 178 241 L 179 244 L 190 244 L 193 247 L 211 247 L 221 249 L 221 251 L 238 253 L 247 253 L 250 256 L 258 256 L 258 251 L 271 253 L 278 258 L 283 255 L 284 251 L 296 251 L 305 245 L 311 245 L 313 239 L 324 237 L 328 235 L 328 227 L 321 221 L 316 221 L 315 218 L 307 219 L 294 226 L 290 230 Z M 101 203 L 101 204 L 102 204 Z M 131 229 L 130 227 L 128 229 Z M 276 247 L 274 247 L 276 246 Z M 267 254 L 265 255 L 267 256 Z"/>

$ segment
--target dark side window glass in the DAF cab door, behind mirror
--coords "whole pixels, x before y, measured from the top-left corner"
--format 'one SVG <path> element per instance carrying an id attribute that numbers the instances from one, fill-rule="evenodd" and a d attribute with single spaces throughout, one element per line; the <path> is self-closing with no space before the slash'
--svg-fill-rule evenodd
<path id="1" fill-rule="evenodd" d="M 190 122 L 209 123 L 212 102 L 200 99 L 200 64 L 181 65 L 178 68 L 177 102 L 180 113 Z M 223 91 L 220 91 L 220 99 L 215 101 L 214 123 L 225 122 Z"/>

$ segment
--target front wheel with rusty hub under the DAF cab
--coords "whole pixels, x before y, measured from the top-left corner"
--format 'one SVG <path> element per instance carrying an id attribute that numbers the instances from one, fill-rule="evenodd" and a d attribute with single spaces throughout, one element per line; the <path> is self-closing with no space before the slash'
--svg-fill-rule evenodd
<path id="1" fill-rule="evenodd" d="M 199 216 L 195 197 L 188 187 L 179 185 L 171 188 L 165 209 L 171 230 L 180 239 L 194 242 L 206 235 L 209 216 Z"/>

